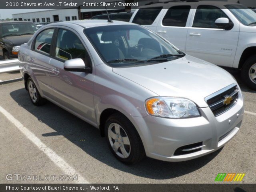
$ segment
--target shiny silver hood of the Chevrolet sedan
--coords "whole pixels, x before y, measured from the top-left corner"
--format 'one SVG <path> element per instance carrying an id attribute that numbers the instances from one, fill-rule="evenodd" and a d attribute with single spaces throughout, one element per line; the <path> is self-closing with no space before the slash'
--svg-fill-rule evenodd
<path id="1" fill-rule="evenodd" d="M 208 107 L 206 96 L 236 83 L 226 70 L 188 55 L 169 62 L 112 70 L 156 96 L 188 98 L 199 107 Z"/>

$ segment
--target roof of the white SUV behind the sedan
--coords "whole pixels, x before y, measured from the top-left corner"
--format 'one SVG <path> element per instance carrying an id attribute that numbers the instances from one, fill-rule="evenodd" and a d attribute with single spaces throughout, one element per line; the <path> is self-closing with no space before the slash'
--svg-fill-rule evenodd
<path id="1" fill-rule="evenodd" d="M 156 2 L 156 3 L 149 3 L 144 6 L 140 6 L 139 8 L 154 8 L 154 7 L 163 7 L 163 8 L 170 8 L 171 6 L 179 6 L 179 5 L 212 5 L 212 6 L 224 6 L 227 4 L 237 4 L 228 1 L 166 1 L 166 2 Z M 237 4 L 241 5 L 241 4 Z"/>

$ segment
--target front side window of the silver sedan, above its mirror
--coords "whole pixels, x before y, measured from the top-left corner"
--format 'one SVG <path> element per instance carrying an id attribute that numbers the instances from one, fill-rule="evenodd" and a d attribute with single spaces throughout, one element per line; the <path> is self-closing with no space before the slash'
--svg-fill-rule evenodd
<path id="1" fill-rule="evenodd" d="M 58 31 L 55 53 L 56 58 L 62 60 L 81 58 L 86 64 L 90 62 L 90 57 L 82 42 L 76 34 L 69 30 L 60 29 Z"/>

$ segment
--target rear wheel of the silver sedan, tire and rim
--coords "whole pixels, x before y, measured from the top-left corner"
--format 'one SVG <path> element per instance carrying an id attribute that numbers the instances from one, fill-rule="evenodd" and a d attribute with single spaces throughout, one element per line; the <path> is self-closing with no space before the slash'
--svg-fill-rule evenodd
<path id="1" fill-rule="evenodd" d="M 40 106 L 44 104 L 45 99 L 41 97 L 40 93 L 36 88 L 35 83 L 31 78 L 28 78 L 27 87 L 28 87 L 28 94 L 30 96 L 30 100 L 32 101 L 32 103 L 36 106 Z"/>

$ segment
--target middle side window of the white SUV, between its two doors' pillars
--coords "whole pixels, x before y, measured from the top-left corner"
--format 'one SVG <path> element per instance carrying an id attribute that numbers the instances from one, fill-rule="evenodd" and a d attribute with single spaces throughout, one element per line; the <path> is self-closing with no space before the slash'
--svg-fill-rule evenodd
<path id="1" fill-rule="evenodd" d="M 162 24 L 164 26 L 185 27 L 190 8 L 191 6 L 174 6 L 170 8 L 166 12 Z"/>

